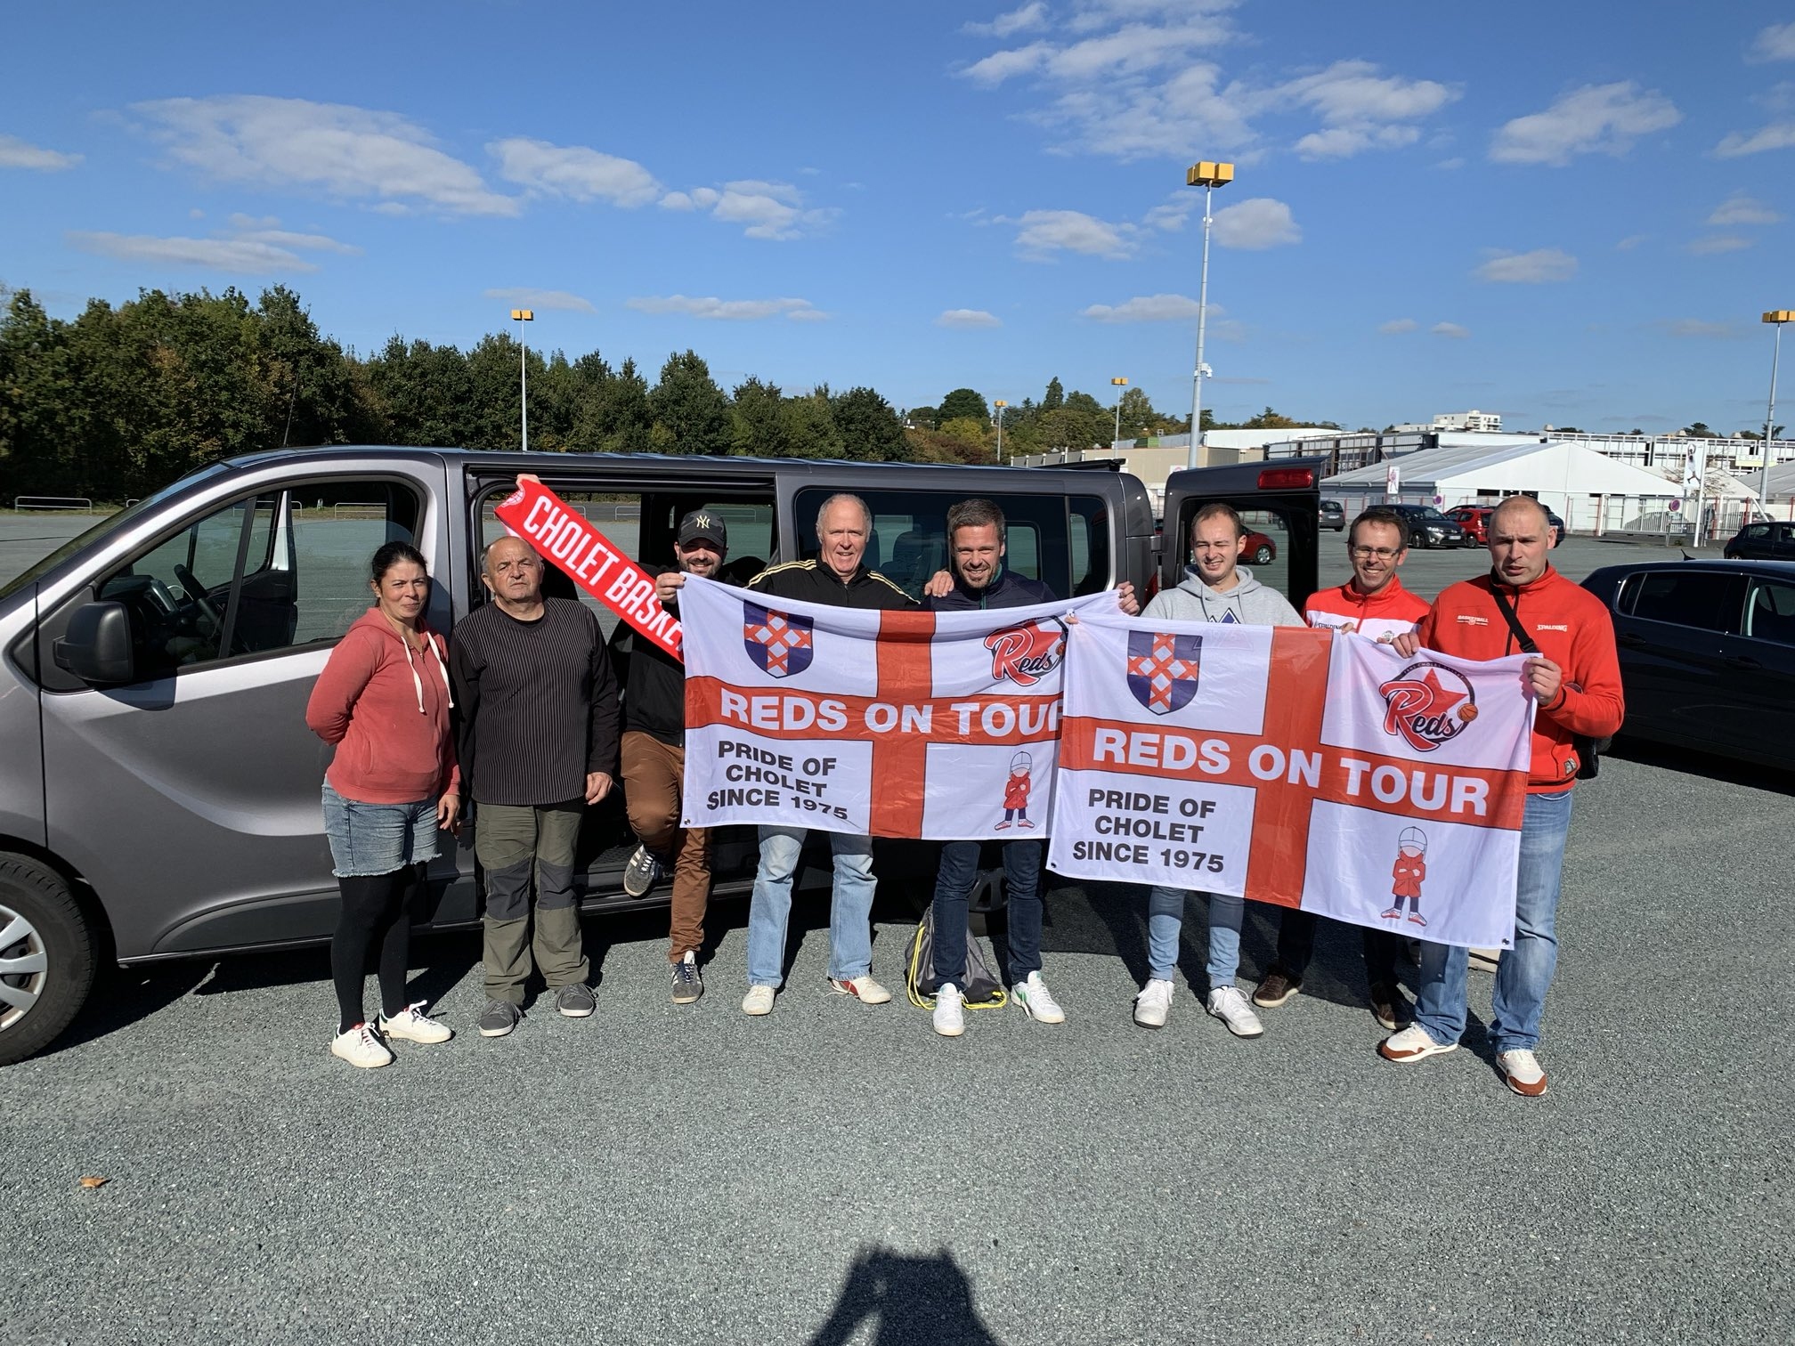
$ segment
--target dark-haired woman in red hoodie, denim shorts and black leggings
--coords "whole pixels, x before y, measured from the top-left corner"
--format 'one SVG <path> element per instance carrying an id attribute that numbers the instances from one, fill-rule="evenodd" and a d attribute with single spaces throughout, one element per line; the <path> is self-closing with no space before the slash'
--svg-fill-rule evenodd
<path id="1" fill-rule="evenodd" d="M 373 553 L 375 603 L 330 651 L 305 705 L 305 723 L 336 757 L 325 772 L 325 833 L 343 912 L 330 940 L 341 1023 L 330 1052 L 352 1066 L 384 1066 L 391 1037 L 445 1043 L 454 1034 L 425 1003 L 406 1003 L 411 896 L 452 831 L 461 782 L 449 732 L 443 639 L 424 625 L 431 578 L 409 542 Z M 381 946 L 379 1025 L 363 1016 L 368 955 Z"/>

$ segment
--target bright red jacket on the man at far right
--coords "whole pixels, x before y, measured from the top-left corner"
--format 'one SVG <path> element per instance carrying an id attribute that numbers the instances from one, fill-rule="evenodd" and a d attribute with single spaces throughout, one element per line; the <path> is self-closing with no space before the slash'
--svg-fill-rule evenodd
<path id="1" fill-rule="evenodd" d="M 1554 793 L 1576 784 L 1578 754 L 1572 734 L 1603 738 L 1621 727 L 1626 704 L 1621 696 L 1621 660 L 1614 653 L 1614 621 L 1601 599 L 1571 583 L 1551 565 L 1529 585 L 1504 592 L 1520 628 L 1540 653 L 1563 669 L 1556 700 L 1540 704 L 1533 716 L 1533 763 L 1529 793 Z M 1461 659 L 1502 659 L 1520 653 L 1495 605 L 1490 576 L 1479 574 L 1440 594 L 1422 621 L 1423 650 Z"/>

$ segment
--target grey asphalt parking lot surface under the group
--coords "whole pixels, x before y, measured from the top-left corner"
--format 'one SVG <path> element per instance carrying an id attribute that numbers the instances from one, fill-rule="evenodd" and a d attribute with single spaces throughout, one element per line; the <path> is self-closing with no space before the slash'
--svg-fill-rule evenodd
<path id="1" fill-rule="evenodd" d="M 1572 538 L 1560 560 L 1628 551 Z M 1418 553 L 1404 578 L 1431 594 L 1481 558 Z M 1580 786 L 1538 1100 L 1495 1075 L 1486 976 L 1465 1050 L 1380 1061 L 1335 928 L 1262 1039 L 1183 976 L 1170 1025 L 1136 1028 L 1129 887 L 1050 888 L 1066 1025 L 976 1012 L 957 1041 L 901 994 L 827 994 L 817 903 L 766 1019 L 738 1010 L 743 903 L 713 912 L 696 1005 L 668 1001 L 662 915 L 589 921 L 598 1014 L 538 1007 L 497 1041 L 472 1032 L 477 940 L 420 940 L 415 991 L 460 1036 L 379 1071 L 327 1052 L 321 951 L 118 973 L 57 1050 L 0 1071 L 0 1323 L 23 1342 L 1790 1341 L 1791 793 L 1624 741 Z M 915 897 L 878 908 L 894 987 Z M 1269 953 L 1255 912 L 1242 976 Z M 1181 971 L 1201 969 L 1194 905 Z"/>

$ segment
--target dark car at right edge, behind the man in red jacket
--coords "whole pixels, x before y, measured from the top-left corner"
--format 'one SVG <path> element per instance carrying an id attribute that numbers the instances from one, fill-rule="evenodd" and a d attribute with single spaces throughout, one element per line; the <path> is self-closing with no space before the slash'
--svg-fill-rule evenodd
<path id="1" fill-rule="evenodd" d="M 1795 562 L 1605 565 L 1626 689 L 1621 732 L 1795 770 Z"/>

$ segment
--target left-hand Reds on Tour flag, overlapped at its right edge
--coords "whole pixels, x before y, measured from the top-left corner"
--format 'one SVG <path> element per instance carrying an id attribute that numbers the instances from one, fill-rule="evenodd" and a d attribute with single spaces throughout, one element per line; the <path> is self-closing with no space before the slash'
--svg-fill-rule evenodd
<path id="1" fill-rule="evenodd" d="M 682 822 L 1045 836 L 1066 614 L 862 612 L 687 578 Z"/>

